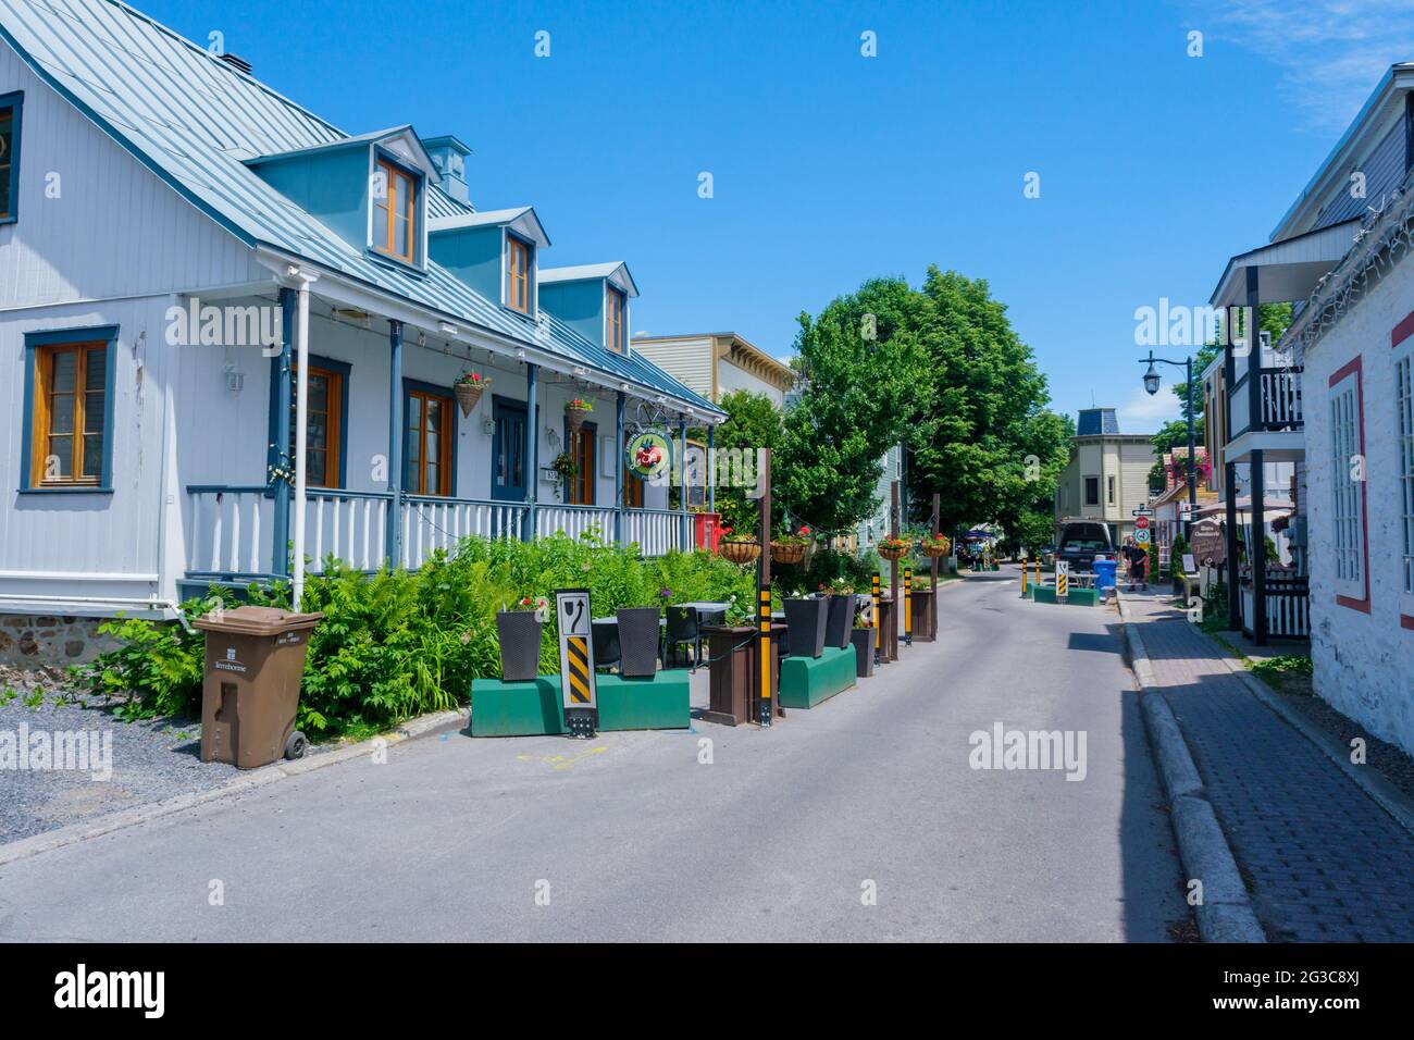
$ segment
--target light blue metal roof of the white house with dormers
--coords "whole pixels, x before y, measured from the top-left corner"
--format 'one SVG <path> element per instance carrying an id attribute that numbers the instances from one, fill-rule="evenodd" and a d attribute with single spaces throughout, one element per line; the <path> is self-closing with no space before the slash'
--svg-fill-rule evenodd
<path id="1" fill-rule="evenodd" d="M 188 202 L 249 246 L 266 245 L 529 347 L 723 415 L 639 358 L 584 342 L 482 297 L 440 265 L 426 273 L 355 249 L 294 205 L 246 160 L 349 136 L 253 76 L 115 0 L 0 0 L 0 37 L 28 67 Z M 474 209 L 436 185 L 428 218 Z M 583 340 L 583 337 L 577 337 Z M 587 342 L 587 341 L 585 341 Z"/>

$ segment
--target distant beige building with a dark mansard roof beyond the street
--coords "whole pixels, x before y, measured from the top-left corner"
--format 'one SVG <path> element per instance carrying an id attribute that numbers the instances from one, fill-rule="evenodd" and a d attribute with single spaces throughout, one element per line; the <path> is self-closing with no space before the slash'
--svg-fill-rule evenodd
<path id="1" fill-rule="evenodd" d="M 1148 502 L 1148 474 L 1157 456 L 1148 433 L 1120 433 L 1113 408 L 1083 409 L 1070 461 L 1056 485 L 1056 529 L 1093 519 L 1110 528 L 1118 545 L 1134 533 L 1134 511 Z"/>

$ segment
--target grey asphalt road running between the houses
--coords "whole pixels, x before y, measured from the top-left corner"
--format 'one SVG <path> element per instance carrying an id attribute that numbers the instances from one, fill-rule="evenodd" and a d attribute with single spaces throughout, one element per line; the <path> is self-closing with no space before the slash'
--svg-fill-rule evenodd
<path id="1" fill-rule="evenodd" d="M 11 863 L 0 940 L 1164 941 L 1117 616 L 1018 591 L 943 591 L 937 644 L 769 730 L 452 733 Z M 971 768 L 998 722 L 1083 732 L 1085 778 Z"/>

